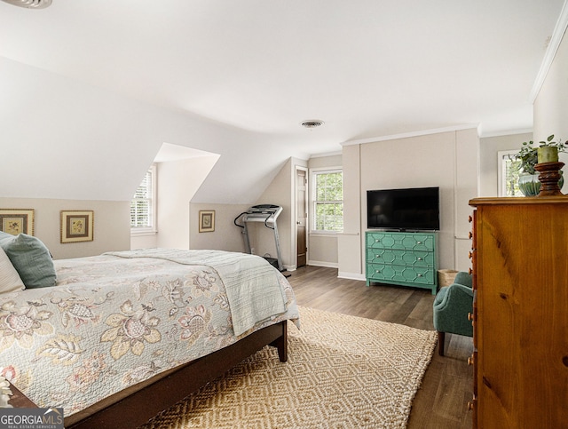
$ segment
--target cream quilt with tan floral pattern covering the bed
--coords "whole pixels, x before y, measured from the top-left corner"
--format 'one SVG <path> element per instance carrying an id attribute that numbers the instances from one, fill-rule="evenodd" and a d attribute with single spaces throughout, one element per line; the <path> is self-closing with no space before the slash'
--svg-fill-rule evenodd
<path id="1" fill-rule="evenodd" d="M 56 260 L 56 286 L 0 295 L 2 375 L 38 406 L 62 407 L 67 417 L 269 324 L 299 326 L 294 293 L 277 270 L 285 311 L 237 337 L 216 268 L 203 258 L 199 265 L 170 259 L 113 253 Z"/>

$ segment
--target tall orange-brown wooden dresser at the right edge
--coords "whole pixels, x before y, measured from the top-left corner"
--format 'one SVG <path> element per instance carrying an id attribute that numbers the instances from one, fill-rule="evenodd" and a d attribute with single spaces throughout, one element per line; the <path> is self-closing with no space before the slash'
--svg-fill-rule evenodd
<path id="1" fill-rule="evenodd" d="M 473 426 L 568 427 L 568 196 L 477 198 Z"/>

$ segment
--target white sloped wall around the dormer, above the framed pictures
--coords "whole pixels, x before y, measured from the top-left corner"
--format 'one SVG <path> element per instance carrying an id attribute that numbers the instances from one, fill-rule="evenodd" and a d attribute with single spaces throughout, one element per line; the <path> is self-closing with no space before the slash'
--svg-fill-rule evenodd
<path id="1" fill-rule="evenodd" d="M 167 142 L 221 155 L 195 202 L 253 203 L 294 155 L 279 139 L 1 57 L 0 94 L 0 171 L 10 178 L 0 196 L 127 201 Z"/>

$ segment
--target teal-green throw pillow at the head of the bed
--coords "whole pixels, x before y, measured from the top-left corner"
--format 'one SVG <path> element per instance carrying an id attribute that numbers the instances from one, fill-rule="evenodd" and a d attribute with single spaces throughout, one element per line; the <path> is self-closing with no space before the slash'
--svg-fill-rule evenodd
<path id="1" fill-rule="evenodd" d="M 28 289 L 54 286 L 57 276 L 50 251 L 36 237 L 0 231 L 0 247 Z"/>

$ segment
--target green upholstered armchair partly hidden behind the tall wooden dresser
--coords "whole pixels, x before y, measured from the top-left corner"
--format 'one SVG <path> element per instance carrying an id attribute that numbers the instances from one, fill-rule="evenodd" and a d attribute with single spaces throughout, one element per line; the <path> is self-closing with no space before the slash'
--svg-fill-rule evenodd
<path id="1" fill-rule="evenodd" d="M 456 274 L 454 283 L 438 291 L 434 298 L 434 328 L 438 331 L 438 354 L 444 356 L 446 332 L 473 337 L 468 314 L 473 313 L 471 274 Z"/>

